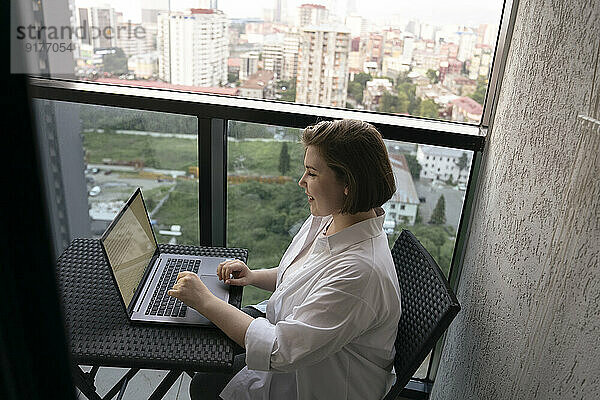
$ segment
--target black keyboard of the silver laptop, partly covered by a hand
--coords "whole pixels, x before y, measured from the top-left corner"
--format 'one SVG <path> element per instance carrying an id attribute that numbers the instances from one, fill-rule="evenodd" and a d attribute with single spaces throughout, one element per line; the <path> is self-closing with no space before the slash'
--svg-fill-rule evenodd
<path id="1" fill-rule="evenodd" d="M 168 258 L 152 299 L 146 308 L 146 315 L 185 317 L 187 306 L 179 299 L 167 294 L 182 271 L 198 273 L 200 260 Z"/>

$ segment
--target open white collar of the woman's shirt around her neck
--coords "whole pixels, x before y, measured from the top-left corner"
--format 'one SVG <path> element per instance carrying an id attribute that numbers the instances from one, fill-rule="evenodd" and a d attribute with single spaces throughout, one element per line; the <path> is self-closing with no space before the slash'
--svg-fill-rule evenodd
<path id="1" fill-rule="evenodd" d="M 324 236 L 319 231 L 315 250 L 318 251 L 321 248 L 329 250 L 330 253 L 338 253 L 353 244 L 379 236 L 383 232 L 385 211 L 381 207 L 376 207 L 374 210 L 377 214 L 376 217 L 357 222 L 331 236 Z M 332 219 L 332 216 L 324 217 L 321 226 L 328 226 Z"/>

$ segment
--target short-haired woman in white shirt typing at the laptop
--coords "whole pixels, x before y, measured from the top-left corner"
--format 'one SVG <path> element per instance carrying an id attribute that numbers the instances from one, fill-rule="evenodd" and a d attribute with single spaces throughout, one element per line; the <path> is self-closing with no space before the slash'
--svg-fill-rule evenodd
<path id="1" fill-rule="evenodd" d="M 225 283 L 273 291 L 266 318 L 217 299 L 193 273 L 169 291 L 246 349 L 223 399 L 381 399 L 394 381 L 400 289 L 380 207 L 396 190 L 387 150 L 355 120 L 309 126 L 302 142 L 298 184 L 311 216 L 279 266 L 235 260 L 217 270 Z"/>

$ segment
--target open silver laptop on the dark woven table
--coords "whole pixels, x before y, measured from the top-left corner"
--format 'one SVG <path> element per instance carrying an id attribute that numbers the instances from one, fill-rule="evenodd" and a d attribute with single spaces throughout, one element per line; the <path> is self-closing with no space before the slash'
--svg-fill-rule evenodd
<path id="1" fill-rule="evenodd" d="M 100 238 L 102 250 L 132 322 L 214 326 L 167 291 L 177 274 L 192 271 L 217 297 L 229 302 L 229 285 L 217 276 L 228 258 L 161 253 L 137 188 Z"/>

